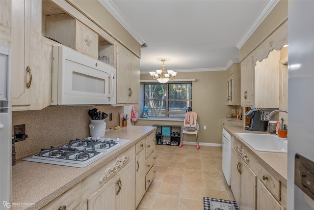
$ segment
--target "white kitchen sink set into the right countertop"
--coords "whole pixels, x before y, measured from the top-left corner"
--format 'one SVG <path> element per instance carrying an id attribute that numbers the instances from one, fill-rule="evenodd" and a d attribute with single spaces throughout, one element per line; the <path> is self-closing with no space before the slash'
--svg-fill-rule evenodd
<path id="1" fill-rule="evenodd" d="M 235 133 L 257 151 L 287 153 L 288 141 L 274 134 Z"/>

